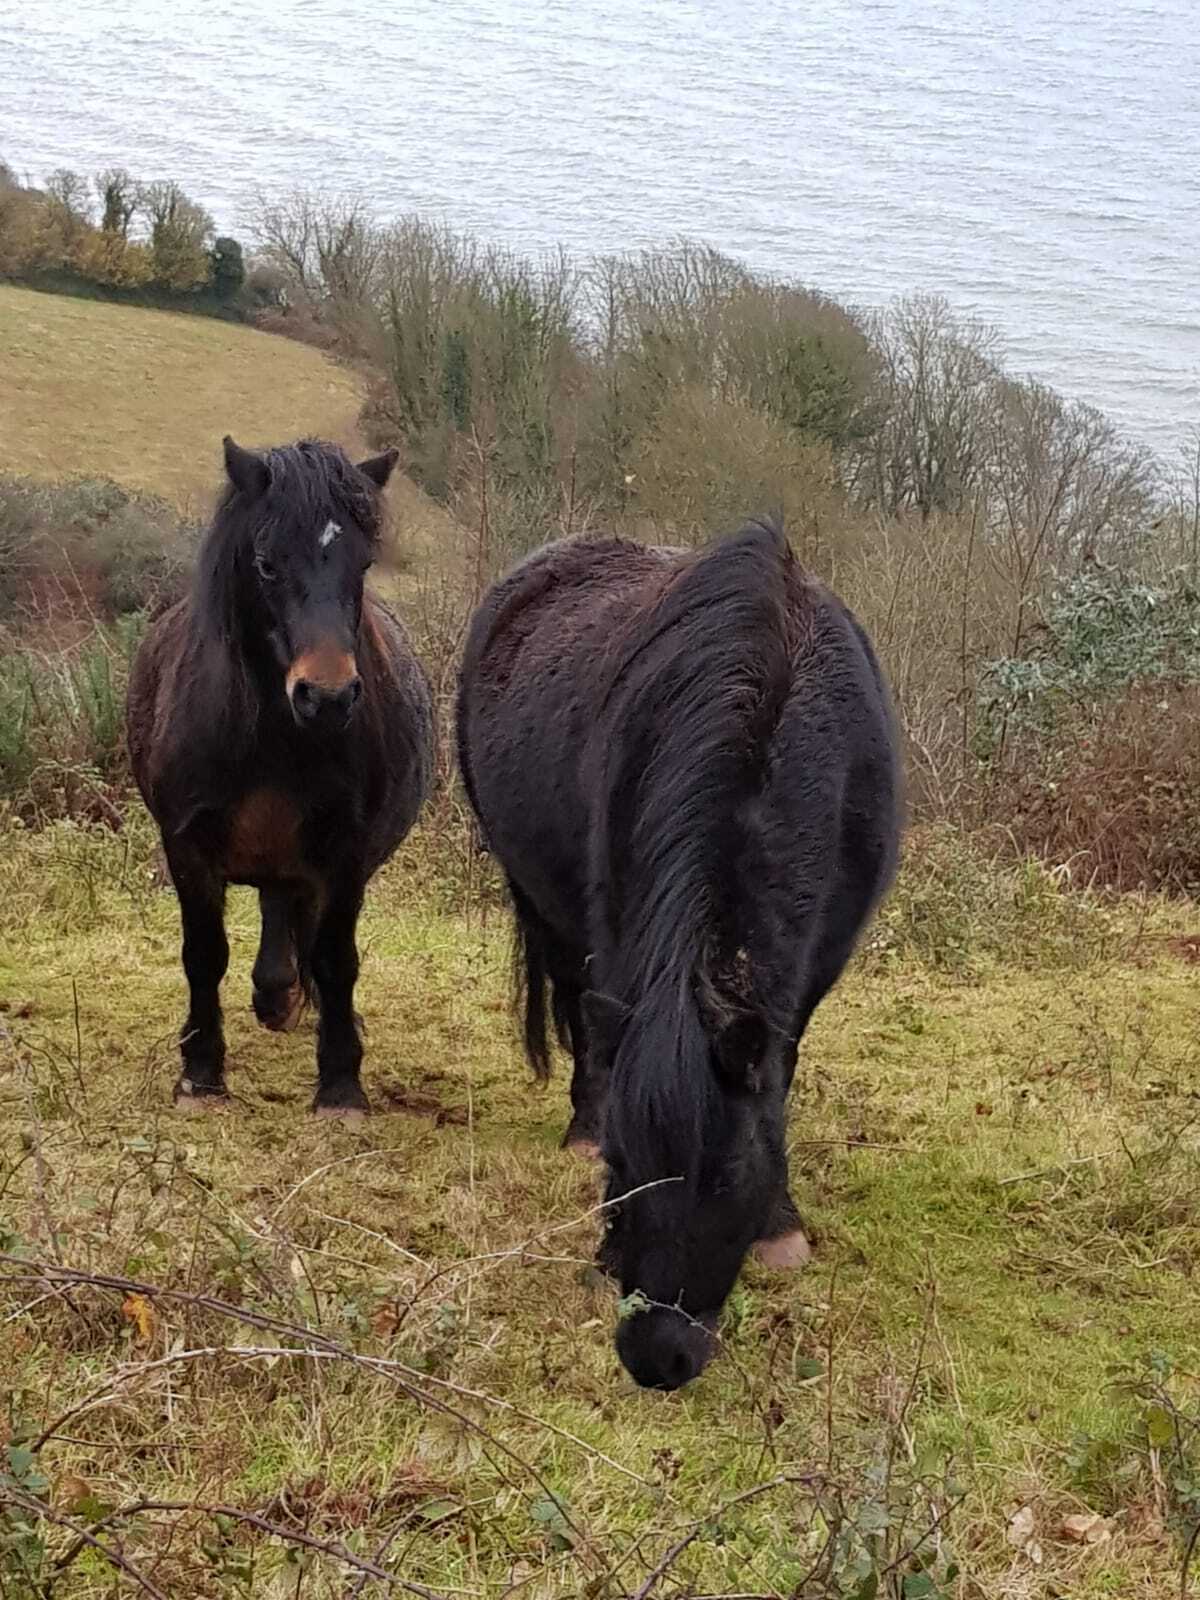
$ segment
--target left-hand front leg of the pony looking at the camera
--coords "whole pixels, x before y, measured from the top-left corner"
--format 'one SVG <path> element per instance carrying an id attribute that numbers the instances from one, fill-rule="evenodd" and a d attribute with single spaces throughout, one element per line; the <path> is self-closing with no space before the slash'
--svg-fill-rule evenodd
<path id="1" fill-rule="evenodd" d="M 221 979 L 229 966 L 226 885 L 211 869 L 168 853 L 184 925 L 187 1021 L 179 1030 L 182 1072 L 176 1102 L 226 1093 L 226 1038 L 221 1027 Z"/>

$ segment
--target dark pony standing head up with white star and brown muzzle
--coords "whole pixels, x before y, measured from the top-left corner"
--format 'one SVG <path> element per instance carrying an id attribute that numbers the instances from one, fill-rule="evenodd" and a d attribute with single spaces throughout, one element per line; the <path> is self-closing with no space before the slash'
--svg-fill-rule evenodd
<path id="1" fill-rule="evenodd" d="M 138 651 L 126 736 L 162 832 L 190 1008 L 176 1101 L 226 1093 L 219 987 L 227 883 L 259 891 L 254 1013 L 320 1006 L 320 1112 L 366 1110 L 354 1011 L 366 880 L 432 770 L 429 685 L 363 579 L 395 453 L 354 466 L 304 440 L 256 454 L 226 438 L 229 485 L 190 594 Z"/>

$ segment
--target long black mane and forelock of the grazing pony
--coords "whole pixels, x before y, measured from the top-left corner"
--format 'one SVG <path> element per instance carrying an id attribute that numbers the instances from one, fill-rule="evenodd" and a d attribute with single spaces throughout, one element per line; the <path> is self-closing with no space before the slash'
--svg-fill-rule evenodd
<path id="1" fill-rule="evenodd" d="M 605 726 L 605 885 L 614 989 L 630 1006 L 610 1118 L 635 1170 L 694 1178 L 718 1096 L 710 1053 L 742 1018 L 709 1014 L 728 885 L 792 680 L 792 552 L 747 523 L 686 566 L 618 669 Z M 728 952 L 726 952 L 728 954 Z M 736 1051 L 734 1054 L 741 1054 Z"/>

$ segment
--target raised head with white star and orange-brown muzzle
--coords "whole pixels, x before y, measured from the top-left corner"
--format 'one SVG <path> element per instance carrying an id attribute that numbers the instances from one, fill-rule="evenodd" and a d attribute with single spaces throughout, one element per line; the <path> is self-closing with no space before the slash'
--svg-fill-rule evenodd
<path id="1" fill-rule="evenodd" d="M 363 579 L 397 453 L 354 466 L 317 440 L 259 454 L 229 437 L 224 451 L 218 525 L 234 525 L 224 549 L 238 568 L 240 608 L 278 669 L 296 725 L 339 731 L 362 696 Z"/>

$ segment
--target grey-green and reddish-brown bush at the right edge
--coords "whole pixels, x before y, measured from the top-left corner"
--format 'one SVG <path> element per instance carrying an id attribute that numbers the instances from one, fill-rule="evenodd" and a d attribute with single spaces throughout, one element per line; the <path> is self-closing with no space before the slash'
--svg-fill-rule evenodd
<path id="1" fill-rule="evenodd" d="M 1021 848 L 1114 888 L 1200 891 L 1200 587 L 1088 568 L 981 675 L 992 805 Z"/>

